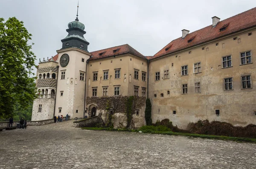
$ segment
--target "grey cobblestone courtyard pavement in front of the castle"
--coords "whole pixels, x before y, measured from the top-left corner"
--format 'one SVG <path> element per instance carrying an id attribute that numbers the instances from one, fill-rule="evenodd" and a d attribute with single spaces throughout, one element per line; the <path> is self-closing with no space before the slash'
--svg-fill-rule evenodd
<path id="1" fill-rule="evenodd" d="M 256 169 L 256 144 L 82 130 L 72 122 L 0 132 L 0 169 Z"/>

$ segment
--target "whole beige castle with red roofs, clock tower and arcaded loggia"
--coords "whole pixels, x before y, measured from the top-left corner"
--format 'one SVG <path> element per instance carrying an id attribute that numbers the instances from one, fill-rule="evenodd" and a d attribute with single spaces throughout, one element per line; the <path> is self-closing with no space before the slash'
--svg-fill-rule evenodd
<path id="1" fill-rule="evenodd" d="M 172 40 L 154 56 L 130 45 L 88 52 L 84 24 L 68 24 L 52 59 L 39 63 L 38 99 L 32 120 L 99 114 L 88 97 L 141 96 L 152 104 L 152 121 L 169 118 L 179 128 L 208 119 L 235 126 L 256 124 L 256 8 Z M 145 106 L 135 127 L 145 124 Z M 125 117 L 115 118 L 116 125 Z"/>

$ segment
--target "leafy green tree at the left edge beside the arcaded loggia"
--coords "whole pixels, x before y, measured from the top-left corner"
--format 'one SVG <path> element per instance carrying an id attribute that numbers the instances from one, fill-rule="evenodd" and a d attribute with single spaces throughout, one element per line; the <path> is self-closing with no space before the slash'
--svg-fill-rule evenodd
<path id="1" fill-rule="evenodd" d="M 22 21 L 0 18 L 0 118 L 11 117 L 15 104 L 25 109 L 36 98 L 31 37 Z"/>

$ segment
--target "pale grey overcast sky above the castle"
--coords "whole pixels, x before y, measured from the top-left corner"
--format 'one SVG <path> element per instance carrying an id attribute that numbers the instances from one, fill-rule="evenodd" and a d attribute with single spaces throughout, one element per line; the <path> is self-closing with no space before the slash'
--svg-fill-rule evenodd
<path id="1" fill-rule="evenodd" d="M 38 58 L 54 56 L 76 18 L 77 0 L 0 0 L 0 17 L 17 17 L 33 35 Z M 80 0 L 88 51 L 129 44 L 144 56 L 156 54 L 181 30 L 190 32 L 256 7 L 256 0 Z M 38 63 L 37 61 L 37 63 Z"/>

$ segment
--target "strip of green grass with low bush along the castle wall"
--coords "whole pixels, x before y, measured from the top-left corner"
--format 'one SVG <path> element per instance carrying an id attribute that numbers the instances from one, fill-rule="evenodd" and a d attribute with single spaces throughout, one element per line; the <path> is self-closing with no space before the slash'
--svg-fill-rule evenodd
<path id="1" fill-rule="evenodd" d="M 192 134 L 192 133 L 183 133 L 183 132 L 172 132 L 171 129 L 165 126 L 142 126 L 139 129 L 114 129 L 114 128 L 102 128 L 102 127 L 82 127 L 86 130 L 107 130 L 107 131 L 125 131 L 125 132 L 138 132 L 142 131 L 143 133 L 151 134 L 163 134 L 163 135 L 181 135 L 186 137 L 198 137 L 198 138 L 209 138 L 209 139 L 218 139 L 218 140 L 227 140 L 227 141 L 239 141 L 239 142 L 251 142 L 256 143 L 256 138 L 242 138 L 242 137 L 228 137 L 222 135 L 204 135 L 204 134 Z"/>

